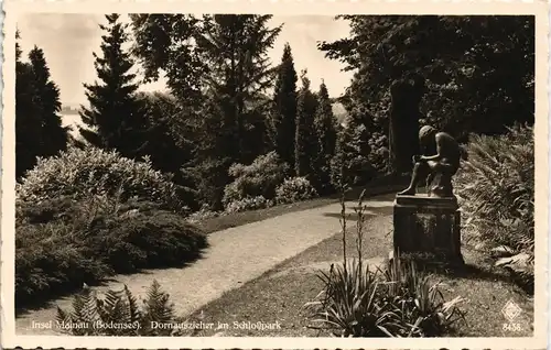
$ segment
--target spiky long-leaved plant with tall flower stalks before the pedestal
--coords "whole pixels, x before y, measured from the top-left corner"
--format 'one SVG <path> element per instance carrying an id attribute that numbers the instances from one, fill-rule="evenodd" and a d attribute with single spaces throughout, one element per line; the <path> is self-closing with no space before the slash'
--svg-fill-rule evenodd
<path id="1" fill-rule="evenodd" d="M 316 300 L 306 304 L 314 309 L 314 321 L 339 337 L 449 335 L 453 324 L 463 319 L 456 307 L 460 297 L 446 303 L 437 284 L 431 285 L 429 275 L 419 273 L 414 264 L 404 265 L 400 256 L 395 256 L 385 271 L 374 272 L 364 262 L 364 194 L 355 209 L 358 259 L 352 262 L 346 255 L 347 215 L 342 194 L 343 264 L 332 264 L 328 273 L 318 273 L 324 287 Z"/>

